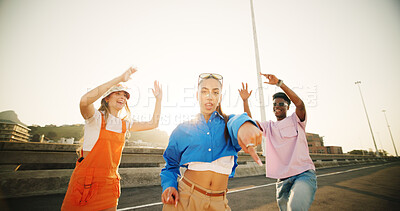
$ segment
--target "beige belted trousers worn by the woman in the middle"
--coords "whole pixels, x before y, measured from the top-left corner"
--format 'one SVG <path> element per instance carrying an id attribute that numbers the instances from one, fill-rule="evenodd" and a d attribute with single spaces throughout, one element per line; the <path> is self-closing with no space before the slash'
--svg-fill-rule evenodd
<path id="1" fill-rule="evenodd" d="M 179 202 L 178 207 L 173 204 L 164 204 L 163 211 L 170 210 L 207 210 L 207 211 L 230 211 L 231 208 L 228 206 L 228 199 L 226 199 L 226 192 L 224 196 L 206 196 L 203 193 L 194 190 L 194 186 L 208 192 L 208 193 L 220 193 L 221 191 L 212 191 L 205 189 L 199 185 L 195 185 L 192 181 L 185 178 L 186 181 L 191 183 L 191 187 L 185 184 L 182 180 L 178 183 Z"/>

